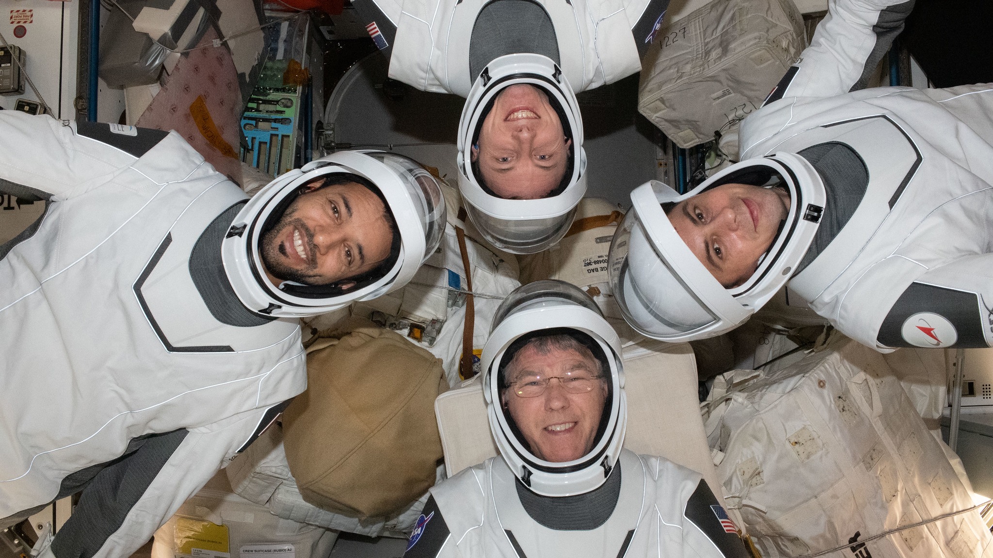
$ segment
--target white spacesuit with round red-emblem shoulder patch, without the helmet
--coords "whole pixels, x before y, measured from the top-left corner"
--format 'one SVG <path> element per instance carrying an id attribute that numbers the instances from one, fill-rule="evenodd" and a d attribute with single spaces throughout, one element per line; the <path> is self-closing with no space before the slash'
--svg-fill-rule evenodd
<path id="1" fill-rule="evenodd" d="M 993 346 L 993 85 L 848 92 L 864 86 L 912 5 L 833 2 L 745 119 L 741 155 L 810 160 L 840 143 L 863 163 L 814 163 L 828 204 L 790 298 L 875 349 Z"/>

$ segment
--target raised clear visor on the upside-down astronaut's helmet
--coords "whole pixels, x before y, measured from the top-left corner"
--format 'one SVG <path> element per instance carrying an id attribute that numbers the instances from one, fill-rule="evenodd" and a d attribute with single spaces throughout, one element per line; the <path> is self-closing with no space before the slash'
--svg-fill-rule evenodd
<path id="1" fill-rule="evenodd" d="M 514 254 L 533 254 L 555 244 L 565 236 L 576 208 L 544 218 L 501 218 L 466 205 L 466 212 L 480 233 L 494 246 Z"/>

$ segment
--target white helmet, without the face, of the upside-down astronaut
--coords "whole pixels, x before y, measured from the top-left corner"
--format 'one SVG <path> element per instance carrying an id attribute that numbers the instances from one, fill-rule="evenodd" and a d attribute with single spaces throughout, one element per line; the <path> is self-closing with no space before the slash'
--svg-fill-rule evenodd
<path id="1" fill-rule="evenodd" d="M 481 131 L 497 103 L 497 96 L 519 84 L 532 85 L 547 96 L 568 144 L 564 153 L 565 173 L 540 199 L 501 198 L 490 187 L 494 184 L 487 185 L 479 160 L 474 161 L 474 150 L 482 153 Z M 510 118 L 508 115 L 505 119 Z M 586 194 L 586 152 L 576 95 L 551 59 L 515 54 L 499 57 L 487 65 L 473 83 L 462 109 L 458 149 L 459 191 L 469 217 L 488 241 L 511 253 L 529 254 L 551 246 L 565 235 L 576 206 Z"/>

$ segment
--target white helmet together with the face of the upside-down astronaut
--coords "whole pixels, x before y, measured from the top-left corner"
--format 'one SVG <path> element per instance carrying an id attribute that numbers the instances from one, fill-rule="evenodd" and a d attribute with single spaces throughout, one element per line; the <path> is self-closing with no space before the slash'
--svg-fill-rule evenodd
<path id="1" fill-rule="evenodd" d="M 521 117 L 524 105 L 538 118 Z M 548 152 L 532 154 L 540 161 L 523 154 L 512 164 L 503 161 L 525 125 Z M 569 230 L 586 193 L 583 122 L 575 94 L 550 59 L 513 54 L 491 62 L 466 99 L 458 147 L 459 191 L 489 242 L 529 254 Z"/>

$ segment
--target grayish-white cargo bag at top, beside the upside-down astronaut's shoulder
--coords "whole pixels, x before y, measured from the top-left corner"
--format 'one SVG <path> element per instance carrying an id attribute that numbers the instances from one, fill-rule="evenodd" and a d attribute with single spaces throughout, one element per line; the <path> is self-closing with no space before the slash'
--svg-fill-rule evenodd
<path id="1" fill-rule="evenodd" d="M 791 0 L 709 2 L 655 35 L 641 65 L 638 111 L 679 147 L 710 141 L 762 106 L 803 38 Z"/>

